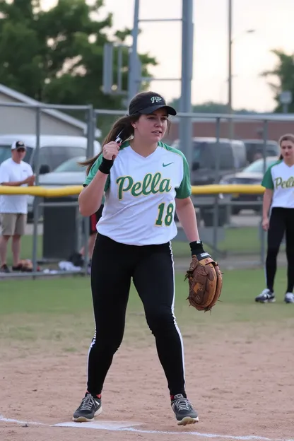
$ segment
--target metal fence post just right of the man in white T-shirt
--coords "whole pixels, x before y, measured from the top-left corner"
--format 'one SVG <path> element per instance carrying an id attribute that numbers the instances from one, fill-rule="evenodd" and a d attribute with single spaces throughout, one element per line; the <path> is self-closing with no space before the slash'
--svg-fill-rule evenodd
<path id="1" fill-rule="evenodd" d="M 36 109 L 36 148 L 35 148 L 35 184 L 39 185 L 40 175 L 40 131 L 41 131 L 41 109 Z M 39 220 L 39 197 L 35 196 L 33 204 L 33 273 L 37 271 L 37 224 Z M 33 276 L 35 278 L 35 276 Z"/>

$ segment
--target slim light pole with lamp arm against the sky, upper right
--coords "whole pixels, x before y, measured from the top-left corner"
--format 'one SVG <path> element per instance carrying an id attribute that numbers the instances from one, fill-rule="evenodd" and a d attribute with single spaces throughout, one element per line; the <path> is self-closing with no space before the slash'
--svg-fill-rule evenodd
<path id="1" fill-rule="evenodd" d="M 232 37 L 232 28 L 233 28 L 233 0 L 228 0 L 228 114 L 230 116 L 233 115 L 233 104 L 232 104 L 232 98 L 233 98 L 233 73 L 232 73 L 232 66 L 233 66 L 233 42 L 235 41 L 235 38 Z M 242 34 L 252 34 L 255 32 L 255 29 L 247 29 Z M 228 122 L 229 125 L 229 139 L 234 138 L 234 122 L 233 118 L 229 119 Z"/>

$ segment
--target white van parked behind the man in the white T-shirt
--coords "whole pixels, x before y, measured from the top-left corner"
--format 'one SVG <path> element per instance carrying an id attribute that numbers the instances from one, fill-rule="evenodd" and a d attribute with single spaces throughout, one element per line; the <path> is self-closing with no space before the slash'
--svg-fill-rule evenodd
<path id="1" fill-rule="evenodd" d="M 25 162 L 35 170 L 36 135 L 0 135 L 0 164 L 11 157 L 13 141 L 23 141 L 27 147 Z M 86 136 L 40 135 L 39 173 L 52 172 L 61 163 L 77 156 L 86 156 L 88 139 Z M 101 151 L 98 141 L 94 141 L 94 155 Z"/>

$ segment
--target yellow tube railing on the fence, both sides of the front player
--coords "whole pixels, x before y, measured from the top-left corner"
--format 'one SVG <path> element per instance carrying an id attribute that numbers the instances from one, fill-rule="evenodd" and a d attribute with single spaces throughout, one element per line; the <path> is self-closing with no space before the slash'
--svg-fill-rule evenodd
<path id="1" fill-rule="evenodd" d="M 83 189 L 82 185 L 69 185 L 57 188 L 45 187 L 8 187 L 0 185 L 0 194 L 30 194 L 32 196 L 56 197 L 56 196 L 73 196 L 80 194 Z M 262 194 L 264 187 L 261 185 L 238 185 L 238 184 L 211 184 L 211 185 L 193 185 L 192 194 Z"/>

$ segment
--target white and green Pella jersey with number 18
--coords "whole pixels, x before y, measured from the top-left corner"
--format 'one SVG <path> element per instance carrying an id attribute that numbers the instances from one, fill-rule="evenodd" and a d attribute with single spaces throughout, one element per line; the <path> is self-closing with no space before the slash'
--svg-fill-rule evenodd
<path id="1" fill-rule="evenodd" d="M 102 161 L 99 156 L 85 185 Z M 158 245 L 177 235 L 175 198 L 191 195 L 189 166 L 183 153 L 159 142 L 147 158 L 122 144 L 105 185 L 98 233 L 127 245 Z"/>

